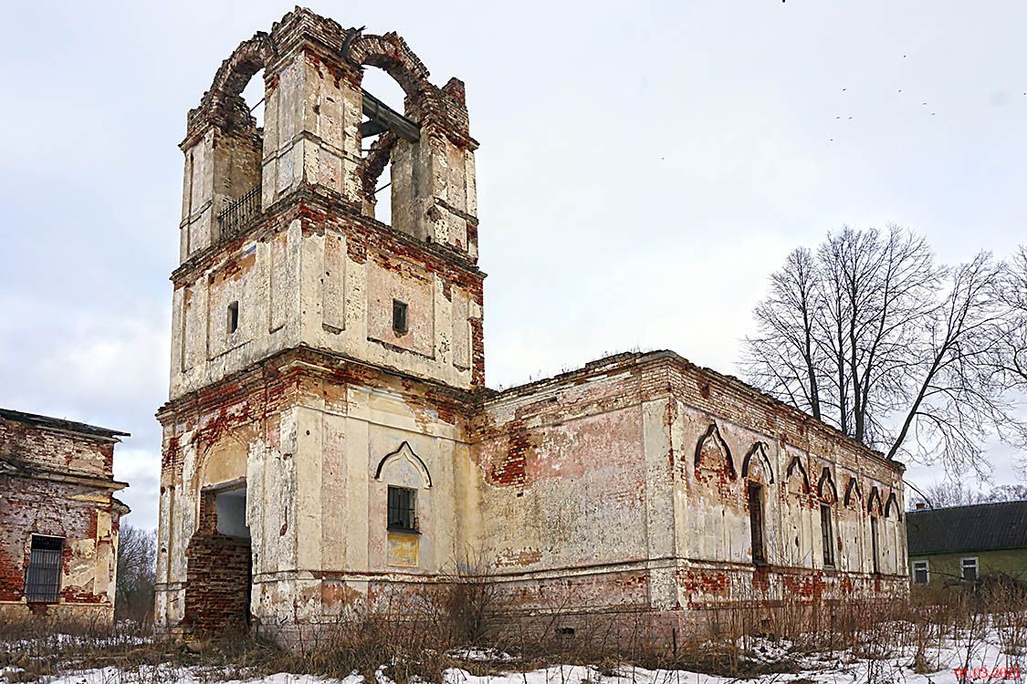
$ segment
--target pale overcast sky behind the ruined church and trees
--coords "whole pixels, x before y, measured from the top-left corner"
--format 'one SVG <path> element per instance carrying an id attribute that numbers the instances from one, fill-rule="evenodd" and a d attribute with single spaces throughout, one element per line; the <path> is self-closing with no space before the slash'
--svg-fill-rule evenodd
<path id="1" fill-rule="evenodd" d="M 737 374 L 769 274 L 842 225 L 905 226 L 950 264 L 1027 243 L 1027 3 L 308 6 L 466 83 L 490 387 L 634 349 Z M 4 8 L 0 406 L 130 432 L 137 526 L 156 524 L 186 112 L 291 8 Z"/>

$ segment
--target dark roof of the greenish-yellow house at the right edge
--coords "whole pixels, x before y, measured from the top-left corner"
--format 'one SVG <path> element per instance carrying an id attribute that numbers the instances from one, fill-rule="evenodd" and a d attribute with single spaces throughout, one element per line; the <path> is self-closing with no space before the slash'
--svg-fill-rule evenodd
<path id="1" fill-rule="evenodd" d="M 906 533 L 910 556 L 1027 549 L 1027 501 L 910 511 Z"/>

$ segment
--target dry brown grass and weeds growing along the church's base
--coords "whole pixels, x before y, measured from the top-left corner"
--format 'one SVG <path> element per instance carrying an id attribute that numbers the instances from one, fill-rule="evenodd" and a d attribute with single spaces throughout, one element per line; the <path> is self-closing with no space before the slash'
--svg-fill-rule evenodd
<path id="1" fill-rule="evenodd" d="M 0 625 L 0 667 L 22 669 L 10 681 L 115 666 L 125 679 L 112 684 L 159 684 L 186 668 L 200 682 L 277 672 L 336 678 L 355 672 L 375 682 L 381 672 L 406 683 L 439 682 L 452 668 L 485 675 L 556 663 L 588 665 L 608 674 L 637 666 L 753 677 L 795 672 L 799 659 L 814 658 L 827 668 L 866 660 L 868 682 L 891 682 L 901 674 L 897 661 L 918 673 L 939 670 L 943 648 L 952 643 L 973 667 L 987 629 L 998 635 L 1011 665 L 1027 653 L 1027 599 L 1002 584 L 978 592 L 914 592 L 903 600 L 814 599 L 711 610 L 694 634 L 675 633 L 670 643 L 652 638 L 643 615 L 578 622 L 573 636 L 561 635 L 556 628 L 567 614 L 559 606 L 550 615 L 490 633 L 486 616 L 502 608 L 487 579 L 453 581 L 354 604 L 331 625 L 292 634 L 289 650 L 274 645 L 274 637 L 284 634 L 265 633 L 262 639 L 234 635 L 193 642 L 198 653 L 181 640 L 129 625 L 112 630 L 35 619 Z M 468 661 L 458 653 L 467 646 L 489 646 L 515 659 Z"/>

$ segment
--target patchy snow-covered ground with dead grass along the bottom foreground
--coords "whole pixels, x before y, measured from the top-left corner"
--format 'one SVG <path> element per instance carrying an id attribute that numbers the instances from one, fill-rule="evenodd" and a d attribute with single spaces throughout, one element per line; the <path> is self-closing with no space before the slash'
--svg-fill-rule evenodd
<path id="1" fill-rule="evenodd" d="M 833 634 L 810 632 L 804 622 L 795 642 L 764 637 L 690 642 L 676 659 L 642 660 L 688 663 L 673 670 L 614 665 L 610 651 L 574 650 L 581 645 L 575 642 L 564 642 L 565 650 L 536 649 L 530 659 L 494 648 L 446 650 L 435 638 L 419 642 L 430 647 L 415 650 L 395 648 L 394 639 L 384 641 L 389 647 L 384 651 L 380 641 L 362 642 L 372 646 L 365 651 L 333 642 L 308 655 L 249 639 L 223 640 L 197 654 L 182 642 L 154 640 L 120 625 L 113 634 L 75 636 L 7 626 L 0 638 L 0 684 L 1027 684 L 1027 611 L 1022 604 L 1015 610 L 1005 605 L 991 614 L 868 620 Z M 845 646 L 816 646 L 824 643 Z M 363 658 L 355 665 L 363 674 L 349 672 L 354 652 Z M 389 667 L 378 667 L 381 662 Z M 545 662 L 595 665 L 541 667 Z M 303 672 L 322 676 L 296 674 Z M 436 674 L 422 679 L 411 672 Z"/>

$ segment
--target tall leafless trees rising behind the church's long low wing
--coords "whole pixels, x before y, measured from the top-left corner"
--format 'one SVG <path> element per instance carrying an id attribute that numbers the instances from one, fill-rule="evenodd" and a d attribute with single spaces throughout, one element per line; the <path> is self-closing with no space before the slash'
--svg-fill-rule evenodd
<path id="1" fill-rule="evenodd" d="M 757 387 L 888 458 L 983 472 L 989 431 L 1024 430 L 1007 394 L 1013 371 L 994 368 L 1011 339 L 999 331 L 1012 307 L 996 295 L 1007 274 L 986 253 L 939 267 L 926 241 L 899 227 L 843 228 L 771 276 L 743 366 Z"/>

